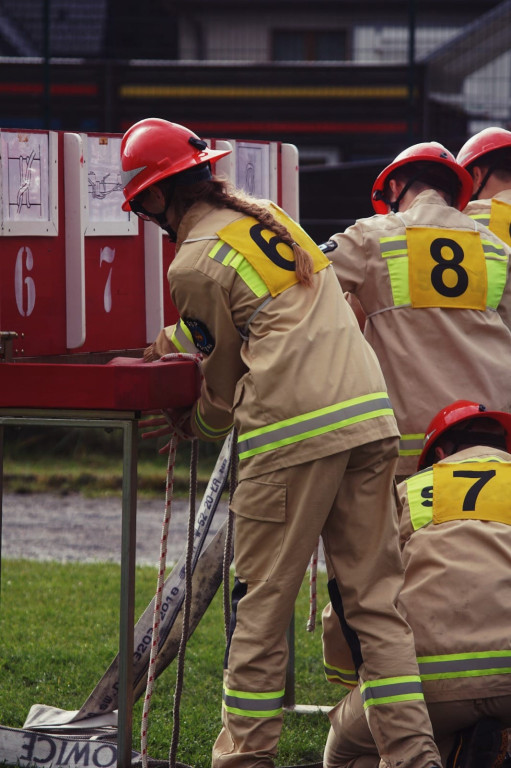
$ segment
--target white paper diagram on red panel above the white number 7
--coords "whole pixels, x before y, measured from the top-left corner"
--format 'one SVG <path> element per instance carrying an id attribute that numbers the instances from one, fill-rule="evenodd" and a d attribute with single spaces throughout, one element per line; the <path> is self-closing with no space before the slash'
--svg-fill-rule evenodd
<path id="1" fill-rule="evenodd" d="M 121 209 L 121 139 L 89 136 L 87 146 L 89 222 L 128 222 L 129 214 Z"/>

